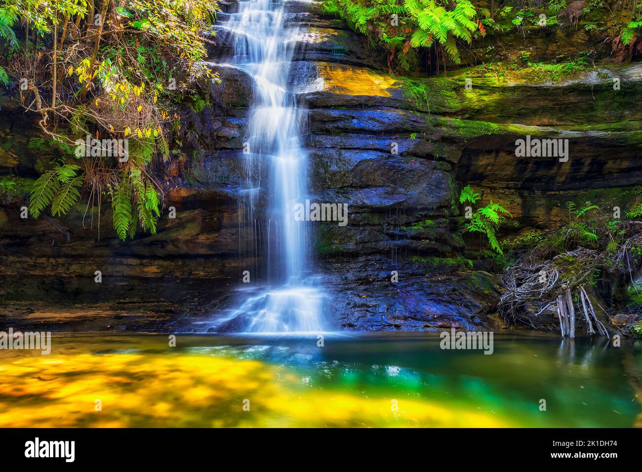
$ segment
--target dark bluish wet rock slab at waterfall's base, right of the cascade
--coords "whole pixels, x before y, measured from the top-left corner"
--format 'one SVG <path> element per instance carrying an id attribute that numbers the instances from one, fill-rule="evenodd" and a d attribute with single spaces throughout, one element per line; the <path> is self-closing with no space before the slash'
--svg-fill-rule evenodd
<path id="1" fill-rule="evenodd" d="M 328 274 L 324 284 L 334 294 L 338 327 L 356 331 L 501 329 L 501 322 L 491 314 L 501 287 L 496 277 L 487 272 L 435 272 L 437 265 L 433 270 L 428 267 L 410 261 L 396 265 L 372 256 L 324 265 Z M 391 282 L 393 270 L 397 283 Z"/>

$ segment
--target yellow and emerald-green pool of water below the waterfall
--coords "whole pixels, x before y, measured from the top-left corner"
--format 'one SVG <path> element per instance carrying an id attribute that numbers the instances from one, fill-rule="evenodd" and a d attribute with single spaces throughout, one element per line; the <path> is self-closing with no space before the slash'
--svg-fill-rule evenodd
<path id="1" fill-rule="evenodd" d="M 0 351 L 0 426 L 642 426 L 642 344 L 437 335 L 57 335 Z M 542 400 L 546 410 L 541 410 Z"/>

